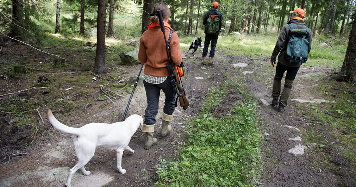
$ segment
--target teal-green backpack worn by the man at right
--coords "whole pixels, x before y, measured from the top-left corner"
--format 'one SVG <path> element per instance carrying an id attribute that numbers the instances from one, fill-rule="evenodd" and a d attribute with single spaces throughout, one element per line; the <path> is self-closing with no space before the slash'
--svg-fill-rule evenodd
<path id="1" fill-rule="evenodd" d="M 292 24 L 290 26 L 289 41 L 286 50 L 286 59 L 289 64 L 307 62 L 308 60 L 308 47 L 309 42 L 306 39 L 308 36 L 309 28 L 306 29 L 294 29 Z"/>

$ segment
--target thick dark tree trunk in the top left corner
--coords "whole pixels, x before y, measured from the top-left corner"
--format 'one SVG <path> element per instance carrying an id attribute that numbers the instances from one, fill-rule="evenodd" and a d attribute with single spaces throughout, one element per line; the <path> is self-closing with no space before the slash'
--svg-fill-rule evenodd
<path id="1" fill-rule="evenodd" d="M 23 0 L 12 0 L 12 30 L 10 36 L 23 37 Z M 16 24 L 16 25 L 15 25 Z"/>

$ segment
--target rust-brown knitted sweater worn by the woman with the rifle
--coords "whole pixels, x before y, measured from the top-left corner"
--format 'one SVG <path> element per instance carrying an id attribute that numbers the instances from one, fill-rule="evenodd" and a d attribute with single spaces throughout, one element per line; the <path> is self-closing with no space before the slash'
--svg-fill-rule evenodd
<path id="1" fill-rule="evenodd" d="M 164 33 L 168 40 L 170 29 L 168 27 L 165 28 L 166 32 Z M 173 63 L 179 65 L 182 62 L 182 54 L 180 53 L 179 39 L 176 32 L 172 33 L 169 51 L 171 52 Z M 167 70 L 169 59 L 160 26 L 150 28 L 143 32 L 140 38 L 138 60 L 145 64 L 143 73 L 151 76 L 169 76 Z"/>

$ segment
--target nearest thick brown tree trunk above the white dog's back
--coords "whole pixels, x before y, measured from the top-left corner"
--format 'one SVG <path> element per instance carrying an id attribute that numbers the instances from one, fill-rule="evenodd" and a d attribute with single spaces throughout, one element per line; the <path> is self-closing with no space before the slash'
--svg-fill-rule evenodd
<path id="1" fill-rule="evenodd" d="M 96 55 L 94 73 L 106 73 L 105 69 L 105 25 L 106 25 L 106 6 L 108 0 L 99 0 L 98 4 L 98 35 L 96 39 Z"/>

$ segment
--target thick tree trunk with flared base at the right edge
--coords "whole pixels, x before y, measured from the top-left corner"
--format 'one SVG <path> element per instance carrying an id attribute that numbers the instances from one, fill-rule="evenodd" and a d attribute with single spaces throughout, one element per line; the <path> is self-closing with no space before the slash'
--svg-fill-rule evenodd
<path id="1" fill-rule="evenodd" d="M 356 83 L 356 17 L 351 28 L 344 63 L 342 63 L 340 73 L 332 76 L 332 79 L 350 82 L 351 84 Z"/>

